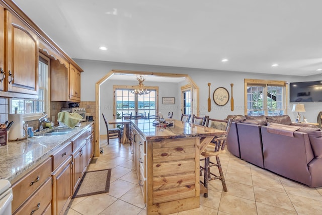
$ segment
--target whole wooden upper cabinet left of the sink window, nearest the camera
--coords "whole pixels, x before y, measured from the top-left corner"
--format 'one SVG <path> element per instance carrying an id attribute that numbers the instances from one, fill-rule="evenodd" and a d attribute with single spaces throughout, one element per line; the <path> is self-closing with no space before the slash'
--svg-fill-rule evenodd
<path id="1" fill-rule="evenodd" d="M 0 8 L 0 96 L 38 98 L 38 37 L 18 17 Z"/>

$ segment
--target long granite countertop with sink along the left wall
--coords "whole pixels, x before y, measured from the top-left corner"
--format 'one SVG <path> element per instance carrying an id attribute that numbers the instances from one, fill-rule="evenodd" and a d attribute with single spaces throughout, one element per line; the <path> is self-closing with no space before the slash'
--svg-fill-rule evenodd
<path id="1" fill-rule="evenodd" d="M 9 141 L 7 146 L 0 147 L 0 179 L 11 183 L 18 180 L 27 170 L 47 159 L 79 131 L 87 129 L 93 123 L 82 122 L 81 126 L 63 135 L 34 136 L 21 141 Z M 58 127 L 53 129 L 55 128 Z"/>

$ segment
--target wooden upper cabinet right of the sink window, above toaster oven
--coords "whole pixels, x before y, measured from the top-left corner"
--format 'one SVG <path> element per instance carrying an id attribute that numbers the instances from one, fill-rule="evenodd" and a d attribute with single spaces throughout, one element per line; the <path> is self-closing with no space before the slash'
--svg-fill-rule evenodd
<path id="1" fill-rule="evenodd" d="M 50 100 L 81 101 L 81 72 L 72 64 L 69 68 L 58 60 L 50 60 Z"/>

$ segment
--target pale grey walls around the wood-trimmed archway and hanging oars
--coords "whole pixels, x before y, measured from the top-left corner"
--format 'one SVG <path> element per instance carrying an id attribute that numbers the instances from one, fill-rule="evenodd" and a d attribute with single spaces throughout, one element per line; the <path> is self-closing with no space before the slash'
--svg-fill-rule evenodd
<path id="1" fill-rule="evenodd" d="M 170 66 L 155 66 L 155 65 L 141 65 L 141 64 L 128 64 L 128 63 L 117 63 L 108 61 L 94 61 L 94 60 L 83 60 L 74 59 L 76 63 L 84 69 L 81 76 L 81 100 L 82 101 L 95 101 L 95 84 L 101 78 L 103 78 L 112 69 L 122 69 L 122 70 L 137 70 L 137 71 L 154 71 L 158 73 L 173 73 L 173 74 L 188 74 L 194 82 L 198 85 L 200 89 L 200 115 L 209 115 L 212 118 L 224 119 L 227 115 L 244 115 L 244 79 L 262 79 L 262 80 L 278 80 L 278 81 L 288 81 L 288 82 L 299 82 L 299 81 L 313 81 L 320 80 L 321 76 L 312 77 L 296 77 L 296 76 L 283 76 L 283 75 L 262 75 L 254 73 L 241 73 L 237 71 L 222 71 L 222 70 L 206 70 L 206 69 L 194 69 L 194 68 L 182 68 L 182 67 L 170 67 Z M 207 111 L 207 100 L 208 100 L 208 85 L 211 83 L 211 111 Z M 230 110 L 230 99 L 229 102 L 224 106 L 217 106 L 212 100 L 212 93 L 218 87 L 224 87 L 228 90 L 231 96 L 230 83 L 233 83 L 233 98 L 234 98 L 234 111 Z M 155 83 L 159 84 L 159 83 Z M 134 84 L 135 85 L 135 84 Z M 145 85 L 150 86 L 146 81 Z M 151 83 L 152 85 L 152 83 Z M 160 87 L 162 87 L 160 85 Z M 180 87 L 178 87 L 180 89 Z M 111 88 L 110 88 L 111 89 Z M 159 89 L 159 92 L 164 92 L 164 97 L 172 97 L 172 92 L 167 92 L 167 88 Z M 106 91 L 104 94 L 109 102 L 109 98 L 113 97 L 112 90 Z M 159 98 L 162 98 L 159 95 Z M 111 103 L 112 104 L 112 103 Z M 162 104 L 162 102 L 160 103 Z M 179 107 L 177 106 L 179 105 Z M 316 117 L 319 111 L 322 111 L 321 103 L 304 103 L 306 112 L 302 115 L 307 118 L 309 122 L 316 122 Z M 180 92 L 177 93 L 176 105 L 174 109 L 179 109 L 181 112 L 181 101 Z M 294 121 L 296 118 L 296 113 L 291 112 L 293 103 L 288 102 L 287 114 L 290 115 L 291 119 Z M 168 107 L 159 106 L 162 112 L 169 112 L 166 110 Z M 164 111 L 165 109 L 165 111 Z M 174 111 L 175 112 L 175 111 Z M 176 112 L 177 114 L 179 112 Z M 174 113 L 175 114 L 175 113 Z M 174 118 L 179 118 L 175 115 Z"/>

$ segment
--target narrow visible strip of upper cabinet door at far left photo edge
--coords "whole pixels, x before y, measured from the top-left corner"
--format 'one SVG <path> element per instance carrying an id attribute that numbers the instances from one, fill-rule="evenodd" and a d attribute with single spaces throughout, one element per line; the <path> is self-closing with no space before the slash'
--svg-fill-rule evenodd
<path id="1" fill-rule="evenodd" d="M 5 20 L 5 9 L 0 6 L 0 18 Z M 0 21 L 0 91 L 4 90 L 5 79 L 5 22 Z"/>

